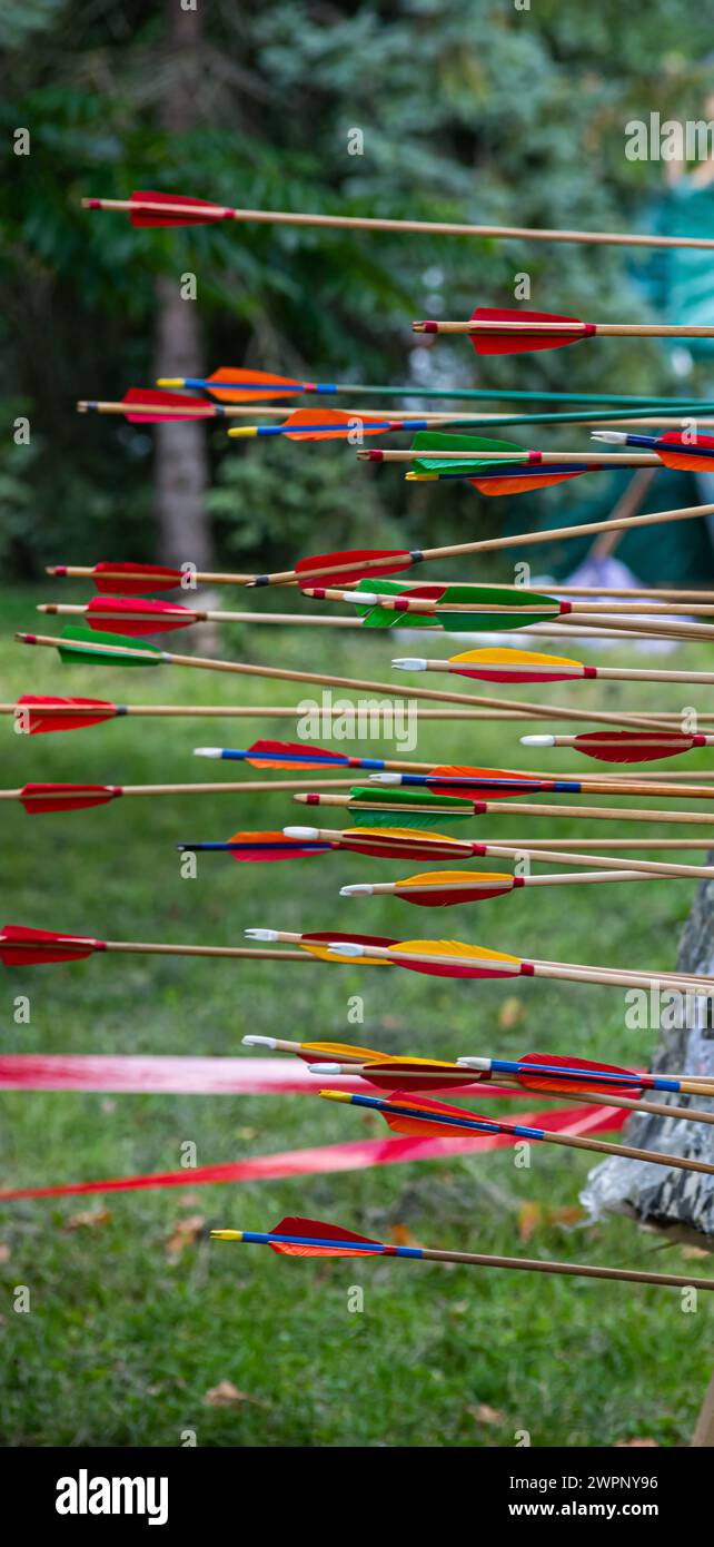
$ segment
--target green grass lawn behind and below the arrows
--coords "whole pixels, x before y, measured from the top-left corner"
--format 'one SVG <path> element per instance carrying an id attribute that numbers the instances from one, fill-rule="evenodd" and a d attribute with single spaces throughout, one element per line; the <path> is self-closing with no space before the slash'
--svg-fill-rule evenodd
<path id="1" fill-rule="evenodd" d="M 73 596 L 66 588 L 66 599 Z M 15 593 L 3 603 L 2 699 L 48 690 L 130 702 L 287 704 L 301 696 L 286 684 L 202 671 L 62 667 L 53 651 L 9 642 L 14 628 L 36 627 L 34 600 L 36 593 Z M 54 623 L 48 619 L 45 631 L 59 633 Z M 184 648 L 187 636 L 178 637 L 176 648 Z M 442 640 L 433 653 L 450 650 Z M 223 653 L 385 679 L 391 654 L 403 650 L 393 651 L 383 634 L 362 639 L 266 627 L 250 636 L 226 631 Z M 705 659 L 703 648 L 689 648 L 677 665 L 702 667 Z M 431 678 L 430 685 L 439 681 Z M 677 688 L 638 692 L 618 684 L 607 692 L 584 684 L 532 696 L 672 709 L 682 701 Z M 124 719 L 29 739 L 14 736 L 5 721 L 0 783 L 212 778 L 218 766 L 193 760 L 193 746 L 246 746 L 258 735 L 289 736 L 291 727 Z M 413 756 L 525 764 L 518 735 L 518 724 L 425 724 Z M 386 744 L 383 750 L 394 753 Z M 576 761 L 566 752 L 541 758 L 553 772 Z M 578 764 L 583 775 L 595 767 Z M 692 770 L 711 764 L 706 752 L 691 758 Z M 221 775 L 232 777 L 227 764 Z M 3 920 L 206 944 L 240 944 L 253 924 L 287 930 L 332 924 L 402 936 L 448 933 L 566 961 L 652 968 L 674 962 L 692 894 L 686 882 L 521 891 L 442 914 L 436 925 L 427 911 L 389 897 L 338 899 L 349 880 L 410 873 L 396 862 L 334 854 L 238 868 L 227 855 L 204 855 L 198 879 L 181 879 L 176 842 L 280 828 L 300 821 L 297 812 L 289 795 L 127 800 L 37 818 L 3 804 Z M 337 826 L 337 814 L 325 812 L 325 825 Z M 504 815 L 464 831 L 522 840 L 525 820 Z M 604 848 L 607 834 L 626 829 L 539 818 L 527 831 L 538 837 L 583 831 L 603 835 Z M 31 998 L 28 1026 L 12 1023 L 20 993 Z M 365 1001 L 362 1026 L 348 1023 L 355 993 Z M 516 996 L 522 1010 L 512 1030 L 498 1026 L 507 996 Z M 634 1061 L 648 1060 L 654 1040 L 624 1029 L 623 993 L 615 989 L 524 982 L 513 993 L 505 985 L 359 965 L 306 964 L 281 973 L 275 962 L 93 958 L 3 972 L 0 1006 L 6 1052 L 235 1055 L 246 1032 L 263 1032 L 442 1057 L 538 1047 Z M 298 1097 L 9 1094 L 0 1111 L 6 1187 L 176 1170 L 187 1140 L 196 1145 L 198 1165 L 210 1165 L 385 1135 L 376 1115 Z M 522 1204 L 575 1204 L 587 1171 L 586 1156 L 544 1146 L 532 1154 L 529 1171 L 516 1170 L 508 1151 L 240 1187 L 192 1188 L 189 1171 L 185 1190 L 5 1205 L 0 1440 L 181 1445 L 182 1431 L 195 1429 L 199 1445 L 508 1446 L 516 1429 L 529 1429 L 541 1446 L 609 1446 L 637 1436 L 686 1443 L 709 1375 L 706 1304 L 699 1315 L 683 1315 L 675 1296 L 640 1287 L 420 1264 L 278 1261 L 266 1250 L 210 1244 L 206 1231 L 178 1259 L 165 1250 L 176 1224 L 196 1213 L 206 1230 L 260 1230 L 284 1213 L 308 1213 L 374 1235 L 389 1236 L 402 1225 L 427 1245 L 686 1272 L 678 1248 L 661 1252 L 655 1238 L 623 1219 L 575 1230 L 546 1222 L 522 1245 Z M 104 1225 L 66 1228 L 71 1216 L 102 1204 L 111 1214 Z M 706 1272 L 706 1264 L 692 1272 Z M 29 1315 L 14 1310 L 20 1284 L 31 1292 Z M 348 1310 L 354 1284 L 365 1292 L 362 1313 Z M 253 1400 L 207 1406 L 206 1392 L 221 1380 Z M 484 1425 L 481 1403 L 502 1422 Z"/>

